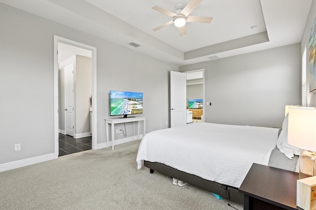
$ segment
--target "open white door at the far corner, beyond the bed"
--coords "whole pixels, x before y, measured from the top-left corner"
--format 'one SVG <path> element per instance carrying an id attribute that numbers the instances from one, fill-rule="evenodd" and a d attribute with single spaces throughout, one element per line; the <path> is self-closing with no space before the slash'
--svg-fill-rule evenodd
<path id="1" fill-rule="evenodd" d="M 170 124 L 186 124 L 186 73 L 170 71 Z"/>

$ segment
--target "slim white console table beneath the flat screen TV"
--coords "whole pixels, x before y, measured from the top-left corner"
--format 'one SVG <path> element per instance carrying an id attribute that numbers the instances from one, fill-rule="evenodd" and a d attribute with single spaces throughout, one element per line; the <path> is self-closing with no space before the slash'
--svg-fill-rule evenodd
<path id="1" fill-rule="evenodd" d="M 139 121 L 144 121 L 144 136 L 146 128 L 146 117 L 126 117 L 126 118 L 107 118 L 105 120 L 105 136 L 107 140 L 107 147 L 109 146 L 109 124 L 111 124 L 111 140 L 112 149 L 114 149 L 114 124 L 126 123 L 126 122 L 137 122 L 137 139 L 139 136 Z"/>

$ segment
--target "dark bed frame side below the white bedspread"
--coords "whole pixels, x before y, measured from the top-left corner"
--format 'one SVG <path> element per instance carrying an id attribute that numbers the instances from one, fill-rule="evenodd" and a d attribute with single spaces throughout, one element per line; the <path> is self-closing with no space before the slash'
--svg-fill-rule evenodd
<path id="1" fill-rule="evenodd" d="M 153 174 L 154 171 L 157 171 L 161 174 L 180 179 L 191 185 L 215 193 L 229 201 L 243 204 L 243 194 L 239 192 L 238 188 L 236 187 L 231 187 L 214 181 L 206 180 L 197 175 L 187 174 L 185 172 L 179 171 L 177 169 L 171 168 L 161 163 L 153 163 L 144 160 L 144 166 L 150 169 L 151 174 Z"/>

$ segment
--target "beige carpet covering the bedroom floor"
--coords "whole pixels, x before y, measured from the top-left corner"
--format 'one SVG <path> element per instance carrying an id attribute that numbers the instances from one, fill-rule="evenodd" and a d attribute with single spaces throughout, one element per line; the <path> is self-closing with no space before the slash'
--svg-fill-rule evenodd
<path id="1" fill-rule="evenodd" d="M 140 141 L 88 150 L 0 173 L 0 209 L 238 210 L 243 206 L 192 185 L 137 170 Z"/>

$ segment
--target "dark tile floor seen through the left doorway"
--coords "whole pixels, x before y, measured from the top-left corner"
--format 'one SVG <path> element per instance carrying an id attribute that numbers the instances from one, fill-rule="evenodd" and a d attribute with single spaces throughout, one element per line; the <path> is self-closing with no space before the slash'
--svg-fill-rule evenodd
<path id="1" fill-rule="evenodd" d="M 92 149 L 92 137 L 75 139 L 69 135 L 59 133 L 59 155 L 69 155 Z"/>

